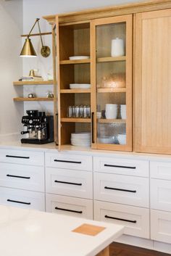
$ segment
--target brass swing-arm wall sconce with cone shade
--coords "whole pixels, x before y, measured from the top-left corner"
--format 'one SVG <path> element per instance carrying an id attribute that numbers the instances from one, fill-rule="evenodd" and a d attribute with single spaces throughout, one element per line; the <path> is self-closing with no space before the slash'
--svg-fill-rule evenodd
<path id="1" fill-rule="evenodd" d="M 33 28 L 35 27 L 36 23 L 38 23 L 38 30 L 39 30 L 38 35 L 40 35 L 40 36 L 42 35 L 39 20 L 40 19 L 38 19 L 38 18 L 36 19 L 36 22 L 34 23 L 34 25 L 31 28 L 29 34 L 27 35 L 27 38 L 25 39 L 25 44 L 22 47 L 22 51 L 20 53 L 21 57 L 37 57 L 36 51 L 35 51 L 35 49 L 33 47 L 33 44 L 30 40 L 30 34 L 31 34 Z M 49 57 L 50 54 L 51 54 L 51 50 L 50 50 L 49 46 L 44 46 L 43 45 L 43 40 L 42 40 L 42 36 L 41 36 L 41 55 L 43 57 Z"/>

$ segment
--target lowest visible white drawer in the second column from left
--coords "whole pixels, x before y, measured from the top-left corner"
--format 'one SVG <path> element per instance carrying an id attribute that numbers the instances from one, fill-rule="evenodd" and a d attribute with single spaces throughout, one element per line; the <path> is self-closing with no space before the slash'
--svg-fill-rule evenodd
<path id="1" fill-rule="evenodd" d="M 79 218 L 93 219 L 93 201 L 75 197 L 62 197 L 46 194 L 46 212 L 72 215 Z"/>

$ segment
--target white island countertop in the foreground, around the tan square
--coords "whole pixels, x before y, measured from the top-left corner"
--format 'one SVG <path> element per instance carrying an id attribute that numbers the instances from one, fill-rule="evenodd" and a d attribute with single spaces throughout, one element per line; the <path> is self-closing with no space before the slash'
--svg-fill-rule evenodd
<path id="1" fill-rule="evenodd" d="M 96 236 L 72 232 L 83 223 L 106 228 Z M 122 233 L 120 225 L 0 206 L 1 256 L 94 256 Z"/>

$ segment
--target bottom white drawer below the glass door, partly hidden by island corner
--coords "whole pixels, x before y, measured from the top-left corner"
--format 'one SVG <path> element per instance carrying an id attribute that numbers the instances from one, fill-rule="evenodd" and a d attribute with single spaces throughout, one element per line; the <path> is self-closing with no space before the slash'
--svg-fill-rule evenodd
<path id="1" fill-rule="evenodd" d="M 149 239 L 149 209 L 95 201 L 94 220 L 124 225 L 124 234 Z"/>

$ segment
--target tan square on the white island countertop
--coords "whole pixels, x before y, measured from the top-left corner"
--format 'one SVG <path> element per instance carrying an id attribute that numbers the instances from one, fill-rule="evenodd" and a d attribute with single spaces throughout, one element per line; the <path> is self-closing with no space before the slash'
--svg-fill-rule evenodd
<path id="1" fill-rule="evenodd" d="M 100 226 L 83 224 L 83 225 L 79 226 L 78 228 L 75 228 L 74 230 L 72 230 L 72 232 L 85 234 L 88 236 L 96 236 L 101 231 L 104 231 L 104 229 L 105 229 L 104 227 L 100 227 Z"/>

